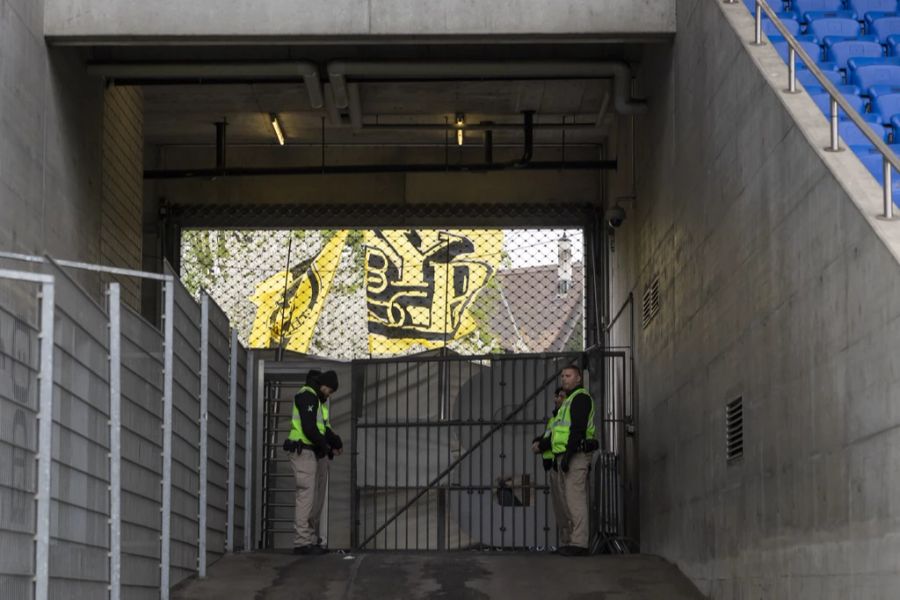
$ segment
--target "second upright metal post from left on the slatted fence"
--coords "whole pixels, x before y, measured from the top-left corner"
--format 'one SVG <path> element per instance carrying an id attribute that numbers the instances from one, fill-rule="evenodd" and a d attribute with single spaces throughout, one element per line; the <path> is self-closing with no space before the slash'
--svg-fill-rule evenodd
<path id="1" fill-rule="evenodd" d="M 109 284 L 109 598 L 119 600 L 122 565 L 121 289 Z"/>

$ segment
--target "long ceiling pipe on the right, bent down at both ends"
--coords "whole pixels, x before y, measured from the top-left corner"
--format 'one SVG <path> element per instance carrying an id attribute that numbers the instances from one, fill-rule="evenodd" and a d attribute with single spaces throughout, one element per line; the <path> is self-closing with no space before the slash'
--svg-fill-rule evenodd
<path id="1" fill-rule="evenodd" d="M 328 63 L 328 80 L 338 108 L 350 104 L 348 80 L 523 80 L 523 79 L 612 79 L 613 106 L 623 115 L 643 113 L 645 100 L 631 97 L 631 68 L 622 61 L 509 61 L 509 62 L 363 62 Z"/>

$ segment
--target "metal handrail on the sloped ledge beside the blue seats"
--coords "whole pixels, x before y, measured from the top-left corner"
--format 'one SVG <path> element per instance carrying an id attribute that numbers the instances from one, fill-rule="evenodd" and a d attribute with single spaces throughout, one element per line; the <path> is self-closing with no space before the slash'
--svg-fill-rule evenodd
<path id="1" fill-rule="evenodd" d="M 737 0 L 725 0 L 726 4 L 737 4 Z M 875 135 L 875 133 L 869 128 L 869 124 L 863 120 L 859 113 L 850 106 L 850 103 L 847 102 L 846 98 L 844 98 L 843 94 L 841 94 L 838 89 L 834 86 L 831 81 L 829 81 L 825 75 L 822 73 L 821 69 L 819 69 L 816 61 L 814 61 L 803 47 L 800 46 L 800 42 L 791 35 L 791 33 L 787 30 L 787 27 L 781 22 L 781 19 L 778 18 L 778 15 L 772 9 L 771 6 L 766 4 L 766 0 L 756 0 L 756 10 L 754 11 L 754 40 L 753 44 L 760 46 L 764 42 L 762 41 L 762 13 L 765 12 L 766 16 L 769 17 L 769 20 L 772 21 L 772 25 L 775 26 L 775 29 L 784 37 L 785 41 L 788 43 L 788 92 L 794 93 L 797 90 L 797 68 L 796 61 L 797 56 L 800 56 L 800 60 L 806 65 L 806 68 L 813 74 L 813 77 L 819 82 L 819 84 L 825 88 L 825 91 L 828 92 L 828 95 L 831 99 L 831 145 L 826 148 L 831 152 L 837 152 L 841 149 L 840 147 L 840 136 L 838 135 L 838 107 L 844 109 L 847 117 L 853 123 L 859 127 L 860 131 L 862 131 L 863 135 L 872 143 L 873 146 L 881 153 L 882 158 L 882 173 L 884 176 L 883 182 L 883 199 L 884 199 L 884 213 L 883 217 L 885 219 L 892 219 L 894 216 L 894 201 L 891 194 L 891 167 L 900 172 L 900 159 L 894 156 L 894 153 L 888 148 L 888 145 L 884 143 L 884 139 Z"/>

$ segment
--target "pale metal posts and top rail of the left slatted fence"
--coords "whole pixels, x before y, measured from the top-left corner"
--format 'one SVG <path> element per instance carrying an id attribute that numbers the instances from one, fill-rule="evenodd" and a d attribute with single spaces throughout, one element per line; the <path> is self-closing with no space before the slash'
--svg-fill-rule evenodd
<path id="1" fill-rule="evenodd" d="M 13 252 L 0 251 L 0 260 L 18 261 L 32 264 L 51 263 L 59 267 L 67 267 L 78 270 L 93 271 L 99 273 L 107 273 L 111 275 L 137 277 L 143 279 L 151 279 L 162 283 L 163 287 L 163 304 L 164 310 L 162 317 L 162 351 L 163 351 L 163 376 L 162 388 L 162 418 L 161 418 L 161 443 L 162 453 L 160 456 L 161 474 L 161 499 L 160 499 L 160 560 L 159 560 L 159 598 L 168 600 L 170 594 L 171 580 L 170 570 L 172 563 L 171 542 L 172 542 L 172 439 L 173 439 L 173 384 L 174 384 L 174 330 L 175 330 L 175 277 L 171 274 L 147 273 L 143 271 L 135 271 L 130 269 L 121 269 L 116 267 L 107 267 L 91 263 L 83 263 L 67 260 L 53 260 L 41 256 L 32 256 L 28 254 L 18 254 Z M 0 268 L 0 281 L 16 280 L 27 283 L 40 285 L 40 390 L 39 390 L 39 435 L 38 435 L 38 452 L 37 452 L 37 491 L 36 498 L 36 532 L 35 532 L 35 566 L 34 566 L 34 600 L 47 600 L 50 597 L 50 510 L 51 510 L 51 450 L 52 450 L 52 414 L 53 414 L 53 347 L 54 347 L 54 315 L 55 315 L 55 278 L 51 274 L 31 273 L 26 271 L 14 271 L 10 269 Z M 120 284 L 110 282 L 107 289 L 107 327 L 108 327 L 108 343 L 109 343 L 109 599 L 118 600 L 122 596 L 122 445 L 121 445 L 121 428 L 122 428 L 122 352 L 121 352 L 121 290 Z M 208 298 L 203 297 L 203 330 L 207 332 L 201 340 L 201 348 L 199 352 L 209 351 L 208 342 Z M 228 439 L 226 443 L 228 464 L 228 481 L 227 481 L 227 506 L 226 506 L 226 552 L 233 552 L 234 543 L 234 522 L 236 516 L 236 457 L 237 457 L 237 377 L 238 377 L 238 339 L 237 332 L 231 329 L 230 336 L 230 370 L 229 370 L 229 407 L 228 407 Z M 246 358 L 246 382 L 247 394 L 244 402 L 245 418 L 245 439 L 244 439 L 244 519 L 243 519 L 243 543 L 244 549 L 252 548 L 251 540 L 251 519 L 248 514 L 251 494 L 253 464 L 252 454 L 252 401 L 251 394 L 253 369 L 252 353 L 248 353 Z M 208 364 L 201 359 L 201 380 L 208 379 Z M 203 389 L 205 392 L 205 387 Z M 201 394 L 202 396 L 202 394 Z M 198 534 L 198 573 L 202 577 L 206 574 L 206 455 L 205 447 L 207 443 L 206 435 L 206 413 L 207 407 L 205 398 L 199 398 L 200 405 L 200 439 L 198 443 L 201 450 L 200 463 L 200 497 L 198 501 L 199 527 Z M 202 404 L 201 404 L 202 402 Z"/>

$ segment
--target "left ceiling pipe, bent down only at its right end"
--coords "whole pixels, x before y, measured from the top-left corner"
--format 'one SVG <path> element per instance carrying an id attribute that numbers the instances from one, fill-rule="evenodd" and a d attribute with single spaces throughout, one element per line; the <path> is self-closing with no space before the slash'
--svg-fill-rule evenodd
<path id="1" fill-rule="evenodd" d="M 216 81 L 291 81 L 303 79 L 309 103 L 322 108 L 322 82 L 319 68 L 305 61 L 290 62 L 216 62 L 216 63 L 92 63 L 91 75 L 105 77 L 114 84 L 135 85 Z"/>

